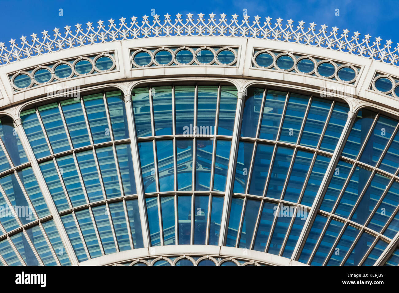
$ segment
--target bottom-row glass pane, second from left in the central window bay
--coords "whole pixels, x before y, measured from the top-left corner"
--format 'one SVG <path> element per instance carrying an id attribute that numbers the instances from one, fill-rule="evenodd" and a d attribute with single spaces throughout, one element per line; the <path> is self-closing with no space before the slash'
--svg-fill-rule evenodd
<path id="1" fill-rule="evenodd" d="M 176 244 L 174 197 L 161 197 L 162 230 L 164 245 Z"/>

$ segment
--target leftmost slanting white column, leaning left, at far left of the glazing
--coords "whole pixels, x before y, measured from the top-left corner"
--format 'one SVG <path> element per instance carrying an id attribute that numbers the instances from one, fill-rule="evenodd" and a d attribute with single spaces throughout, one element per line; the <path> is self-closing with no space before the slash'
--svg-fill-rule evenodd
<path id="1" fill-rule="evenodd" d="M 69 238 L 68 238 L 67 232 L 65 231 L 64 225 L 62 224 L 61 217 L 59 216 L 57 207 L 55 206 L 55 203 L 53 201 L 53 198 L 51 197 L 50 191 L 47 188 L 47 184 L 44 180 L 43 174 L 40 171 L 38 161 L 36 160 L 33 150 L 30 147 L 28 138 L 26 137 L 24 128 L 22 127 L 22 120 L 20 118 L 17 118 L 16 120 L 14 120 L 14 126 L 15 126 L 15 130 L 18 134 L 18 137 L 20 138 L 21 144 L 24 147 L 26 156 L 28 157 L 28 160 L 31 163 L 32 170 L 36 176 L 38 185 L 40 187 L 41 193 L 43 194 L 43 198 L 47 204 L 49 212 L 53 216 L 55 228 L 57 228 L 57 230 L 58 230 L 59 236 L 61 237 L 61 240 L 64 244 L 66 253 L 68 254 L 69 260 L 71 261 L 72 265 L 77 265 L 78 264 L 77 257 L 75 255 L 75 252 L 73 251 L 72 244 L 69 241 Z"/>

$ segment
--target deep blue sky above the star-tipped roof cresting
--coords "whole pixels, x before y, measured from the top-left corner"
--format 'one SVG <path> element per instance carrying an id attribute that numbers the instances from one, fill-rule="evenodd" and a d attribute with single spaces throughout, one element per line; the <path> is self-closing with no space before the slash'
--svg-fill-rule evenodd
<path id="1" fill-rule="evenodd" d="M 383 44 L 385 40 L 391 39 L 393 47 L 399 43 L 398 21 L 399 0 L 164 0 L 164 1 L 102 1 L 102 0 L 59 0 L 59 1 L 32 1 L 32 0 L 0 0 L 0 41 L 7 44 L 10 39 L 17 39 L 24 35 L 40 33 L 43 30 L 51 32 L 55 27 L 63 28 L 66 25 L 73 26 L 77 23 L 97 22 L 98 20 L 109 20 L 110 18 L 141 17 L 150 15 L 151 9 L 156 14 L 166 13 L 198 14 L 200 12 L 209 14 L 225 13 L 242 15 L 243 9 L 247 9 L 249 16 L 259 15 L 263 18 L 270 16 L 275 20 L 282 18 L 285 21 L 292 19 L 297 25 L 303 20 L 308 25 L 311 22 L 317 25 L 326 24 L 328 29 L 337 26 L 341 29 L 349 29 L 349 35 L 359 31 L 361 36 L 369 33 L 374 37 L 381 37 Z M 63 9 L 63 16 L 59 16 L 59 9 Z M 336 16 L 339 9 L 339 16 Z M 306 26 L 307 28 L 308 26 Z M 330 30 L 328 30 L 330 31 Z M 38 34 L 41 35 L 41 34 Z"/>

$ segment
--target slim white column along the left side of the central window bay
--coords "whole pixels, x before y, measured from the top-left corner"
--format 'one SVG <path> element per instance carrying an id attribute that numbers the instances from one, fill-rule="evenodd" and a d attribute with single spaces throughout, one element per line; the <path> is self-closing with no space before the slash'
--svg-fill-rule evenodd
<path id="1" fill-rule="evenodd" d="M 133 119 L 132 95 L 125 94 L 124 100 L 125 100 L 126 116 L 127 116 L 129 136 L 131 142 L 130 149 L 132 150 L 134 179 L 136 181 L 136 191 L 138 195 L 138 208 L 140 211 L 141 229 L 143 232 L 143 244 L 144 247 L 150 247 L 151 241 L 150 241 L 150 232 L 147 224 L 148 221 L 147 221 L 147 212 L 146 212 L 146 202 L 144 198 L 144 185 L 141 176 L 140 156 L 138 154 L 136 126 L 134 124 L 134 119 Z"/>

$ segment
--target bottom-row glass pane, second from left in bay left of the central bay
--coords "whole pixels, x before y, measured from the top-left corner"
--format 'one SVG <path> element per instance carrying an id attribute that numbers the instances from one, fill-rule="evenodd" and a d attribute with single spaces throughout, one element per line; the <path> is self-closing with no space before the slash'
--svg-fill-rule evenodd
<path id="1" fill-rule="evenodd" d="M 79 210 L 76 212 L 77 222 L 82 231 L 83 239 L 85 240 L 87 249 L 91 258 L 102 256 L 100 244 L 97 240 L 96 231 L 94 230 L 93 221 L 88 209 Z"/>

